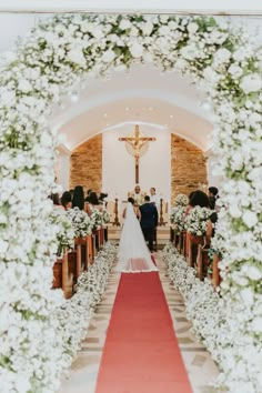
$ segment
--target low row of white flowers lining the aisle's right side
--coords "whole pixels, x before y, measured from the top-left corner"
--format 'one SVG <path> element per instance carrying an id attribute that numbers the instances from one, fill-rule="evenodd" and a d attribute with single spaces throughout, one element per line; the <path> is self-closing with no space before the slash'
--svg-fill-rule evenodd
<path id="1" fill-rule="evenodd" d="M 213 290 L 210 280 L 200 281 L 177 249 L 167 244 L 163 260 L 175 289 L 182 294 L 188 319 L 192 322 L 193 334 L 206 346 L 222 369 L 222 349 L 230 347 L 226 301 Z"/>

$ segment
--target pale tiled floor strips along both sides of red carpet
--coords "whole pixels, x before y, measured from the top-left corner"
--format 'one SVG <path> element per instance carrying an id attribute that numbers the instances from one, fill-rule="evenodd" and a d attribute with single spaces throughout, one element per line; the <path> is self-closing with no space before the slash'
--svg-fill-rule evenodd
<path id="1" fill-rule="evenodd" d="M 193 393 L 212 393 L 213 390 L 209 386 L 209 383 L 218 375 L 218 369 L 203 345 L 190 333 L 191 324 L 185 318 L 182 298 L 170 284 L 167 269 L 161 258 L 158 253 L 154 256 Z M 98 306 L 90 323 L 82 349 L 70 370 L 70 376 L 63 380 L 59 393 L 94 393 L 97 374 L 119 278 L 119 273 L 112 273 L 110 276 L 103 301 Z"/>

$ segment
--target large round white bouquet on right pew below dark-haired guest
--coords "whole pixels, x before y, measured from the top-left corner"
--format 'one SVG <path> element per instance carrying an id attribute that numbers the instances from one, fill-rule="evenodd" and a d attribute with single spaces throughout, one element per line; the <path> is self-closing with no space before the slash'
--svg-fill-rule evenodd
<path id="1" fill-rule="evenodd" d="M 212 212 L 213 211 L 208 208 L 194 206 L 191 209 L 184 220 L 185 231 L 195 236 L 205 235 L 206 224 Z"/>

